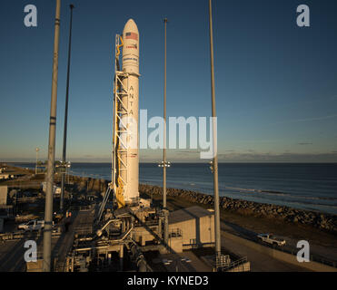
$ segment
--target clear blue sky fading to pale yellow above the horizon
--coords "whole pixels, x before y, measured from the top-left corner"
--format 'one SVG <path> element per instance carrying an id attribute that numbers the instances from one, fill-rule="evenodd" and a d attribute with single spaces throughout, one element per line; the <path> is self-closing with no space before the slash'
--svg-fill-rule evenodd
<path id="1" fill-rule="evenodd" d="M 140 109 L 163 114 L 164 24 L 167 115 L 210 116 L 208 1 L 62 1 L 56 159 L 62 155 L 69 4 L 74 3 L 67 156 L 109 161 L 114 35 L 133 18 L 140 32 Z M 37 27 L 24 25 L 36 5 Z M 296 25 L 310 7 L 311 26 Z M 221 161 L 337 162 L 337 3 L 213 0 L 215 94 Z M 2 3 L 0 160 L 46 158 L 55 1 Z M 161 150 L 142 150 L 154 161 Z M 197 161 L 193 150 L 170 160 Z"/>

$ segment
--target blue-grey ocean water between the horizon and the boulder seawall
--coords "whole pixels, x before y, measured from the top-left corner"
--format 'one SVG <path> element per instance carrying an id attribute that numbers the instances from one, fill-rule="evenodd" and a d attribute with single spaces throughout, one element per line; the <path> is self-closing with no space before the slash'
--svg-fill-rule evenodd
<path id="1" fill-rule="evenodd" d="M 35 164 L 15 164 L 34 168 Z M 72 163 L 71 174 L 111 180 L 109 163 Z M 163 185 L 163 169 L 141 163 L 140 182 Z M 167 187 L 213 194 L 208 163 L 173 163 Z M 219 163 L 220 196 L 337 214 L 336 163 Z"/>

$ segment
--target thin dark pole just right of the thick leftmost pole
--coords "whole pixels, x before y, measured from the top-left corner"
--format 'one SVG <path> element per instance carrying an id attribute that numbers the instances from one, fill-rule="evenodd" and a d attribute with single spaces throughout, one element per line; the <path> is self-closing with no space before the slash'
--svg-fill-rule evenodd
<path id="1" fill-rule="evenodd" d="M 69 102 L 69 73 L 70 73 L 70 56 L 72 50 L 72 28 L 73 28 L 73 8 L 74 5 L 70 6 L 70 28 L 69 28 L 69 47 L 68 47 L 68 68 L 66 75 L 66 92 L 65 92 L 65 110 L 64 110 L 64 149 L 62 154 L 62 163 L 65 166 L 65 153 L 66 153 L 66 131 L 68 126 L 68 102 Z M 64 210 L 64 179 L 65 179 L 65 167 L 62 173 L 61 181 L 61 198 L 60 198 L 60 211 Z"/>

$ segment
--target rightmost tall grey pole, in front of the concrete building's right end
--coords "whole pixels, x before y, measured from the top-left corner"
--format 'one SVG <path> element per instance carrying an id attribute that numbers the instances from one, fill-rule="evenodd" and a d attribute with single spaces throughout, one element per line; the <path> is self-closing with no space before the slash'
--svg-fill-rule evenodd
<path id="1" fill-rule="evenodd" d="M 213 54 L 213 23 L 212 23 L 212 0 L 209 0 L 210 14 L 210 50 L 211 50 L 211 85 L 212 85 L 212 119 L 213 119 L 213 187 L 214 187 L 214 214 L 215 214 L 215 255 L 221 256 L 220 236 L 220 208 L 219 208 L 219 185 L 218 185 L 218 153 L 216 136 L 216 111 L 215 111 L 215 88 L 214 88 L 214 54 Z"/>

